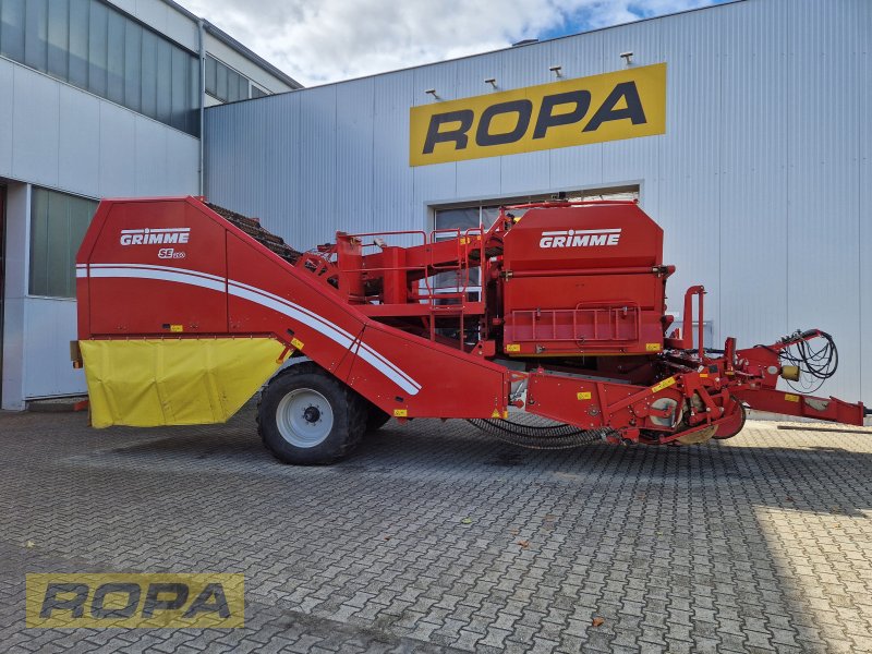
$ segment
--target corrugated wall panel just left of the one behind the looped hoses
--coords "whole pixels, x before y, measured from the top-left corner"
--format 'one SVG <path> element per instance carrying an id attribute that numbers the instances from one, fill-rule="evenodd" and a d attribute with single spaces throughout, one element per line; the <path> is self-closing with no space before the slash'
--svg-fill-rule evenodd
<path id="1" fill-rule="evenodd" d="M 739 5 L 724 20 L 720 50 L 719 231 L 722 336 L 770 342 L 787 334 L 787 125 L 784 112 L 749 98 L 785 98 L 787 40 L 772 28 L 784 8 L 759 8 L 748 21 Z M 740 43 L 742 47 L 728 47 Z M 760 65 L 777 62 L 777 65 Z M 729 129 L 727 129 L 729 125 Z M 765 276 L 765 282 L 761 279 Z M 726 332 L 726 334 L 725 334 Z"/>

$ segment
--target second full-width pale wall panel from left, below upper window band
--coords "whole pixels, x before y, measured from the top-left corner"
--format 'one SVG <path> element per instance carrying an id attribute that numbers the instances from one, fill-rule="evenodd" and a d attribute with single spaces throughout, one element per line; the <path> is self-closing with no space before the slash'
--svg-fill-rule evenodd
<path id="1" fill-rule="evenodd" d="M 58 185 L 88 195 L 99 179 L 100 100 L 65 84 L 60 84 L 58 90 Z"/>

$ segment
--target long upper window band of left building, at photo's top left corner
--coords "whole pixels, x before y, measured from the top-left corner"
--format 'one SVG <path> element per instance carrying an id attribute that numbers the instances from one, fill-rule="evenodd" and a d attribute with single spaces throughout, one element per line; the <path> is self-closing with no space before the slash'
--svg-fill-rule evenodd
<path id="1" fill-rule="evenodd" d="M 0 53 L 199 134 L 197 58 L 101 0 L 0 0 Z"/>

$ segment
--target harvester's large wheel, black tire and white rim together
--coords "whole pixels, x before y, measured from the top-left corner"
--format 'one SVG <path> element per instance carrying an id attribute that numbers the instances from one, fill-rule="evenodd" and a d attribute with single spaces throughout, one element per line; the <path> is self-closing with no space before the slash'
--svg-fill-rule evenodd
<path id="1" fill-rule="evenodd" d="M 331 463 L 360 443 L 366 425 L 363 399 L 314 363 L 274 377 L 257 404 L 257 432 L 284 463 Z"/>

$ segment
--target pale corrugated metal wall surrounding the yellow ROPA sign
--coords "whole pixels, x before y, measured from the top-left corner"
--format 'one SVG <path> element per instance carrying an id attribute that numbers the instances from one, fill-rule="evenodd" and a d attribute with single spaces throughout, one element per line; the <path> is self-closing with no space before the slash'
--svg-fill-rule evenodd
<path id="1" fill-rule="evenodd" d="M 819 326 L 843 354 L 823 391 L 872 403 L 871 43 L 869 0 L 746 0 L 209 109 L 207 193 L 307 247 L 423 229 L 431 204 L 638 182 L 678 266 L 675 308 L 701 282 L 718 341 Z M 409 167 L 425 89 L 610 72 L 628 50 L 668 64 L 665 135 Z"/>

